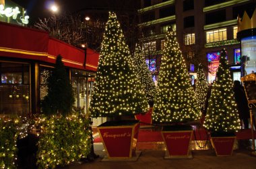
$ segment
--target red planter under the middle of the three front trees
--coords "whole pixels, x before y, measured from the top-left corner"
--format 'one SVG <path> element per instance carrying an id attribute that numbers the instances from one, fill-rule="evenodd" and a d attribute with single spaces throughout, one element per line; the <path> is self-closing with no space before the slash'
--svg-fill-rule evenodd
<path id="1" fill-rule="evenodd" d="M 192 131 L 162 131 L 162 137 L 170 157 L 189 156 Z"/>

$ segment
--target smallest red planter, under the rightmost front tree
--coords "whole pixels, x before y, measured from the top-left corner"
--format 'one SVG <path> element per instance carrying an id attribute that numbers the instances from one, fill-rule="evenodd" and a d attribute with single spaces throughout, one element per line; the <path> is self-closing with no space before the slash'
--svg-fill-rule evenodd
<path id="1" fill-rule="evenodd" d="M 212 146 L 217 156 L 231 156 L 236 137 L 211 137 Z"/>

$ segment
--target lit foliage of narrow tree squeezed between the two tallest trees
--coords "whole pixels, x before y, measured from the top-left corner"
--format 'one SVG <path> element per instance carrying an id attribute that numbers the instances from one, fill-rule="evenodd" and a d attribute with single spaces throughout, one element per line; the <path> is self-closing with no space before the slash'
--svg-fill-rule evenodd
<path id="1" fill-rule="evenodd" d="M 151 72 L 145 62 L 145 58 L 142 55 L 141 47 L 138 45 L 135 48 L 133 61 L 135 65 L 135 71 L 137 72 L 137 76 L 142 84 L 143 91 L 148 99 L 148 103 L 152 103 L 156 93 L 156 86 L 154 84 Z"/>

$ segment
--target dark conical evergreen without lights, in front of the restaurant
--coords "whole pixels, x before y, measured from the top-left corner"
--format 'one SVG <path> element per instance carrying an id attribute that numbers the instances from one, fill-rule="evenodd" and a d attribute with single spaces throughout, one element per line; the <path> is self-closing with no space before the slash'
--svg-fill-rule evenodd
<path id="1" fill-rule="evenodd" d="M 48 94 L 42 100 L 42 112 L 46 115 L 67 115 L 75 102 L 69 76 L 61 59 L 60 55 L 57 56 L 55 68 L 47 82 Z"/>

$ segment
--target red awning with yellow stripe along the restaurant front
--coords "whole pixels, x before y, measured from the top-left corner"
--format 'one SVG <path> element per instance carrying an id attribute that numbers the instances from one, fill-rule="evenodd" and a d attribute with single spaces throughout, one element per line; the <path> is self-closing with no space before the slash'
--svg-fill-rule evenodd
<path id="1" fill-rule="evenodd" d="M 47 32 L 0 22 L 0 56 L 54 63 L 60 54 L 65 66 L 96 71 L 99 54 L 86 51 L 49 38 Z"/>

